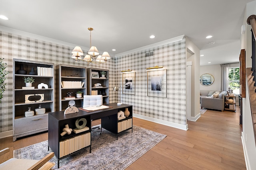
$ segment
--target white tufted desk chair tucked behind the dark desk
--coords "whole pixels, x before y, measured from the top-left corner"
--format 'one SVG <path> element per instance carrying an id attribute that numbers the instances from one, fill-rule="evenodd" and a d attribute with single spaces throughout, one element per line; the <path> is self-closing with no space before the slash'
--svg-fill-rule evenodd
<path id="1" fill-rule="evenodd" d="M 89 106 L 97 106 L 97 105 L 102 105 L 102 95 L 84 95 L 84 107 L 89 107 Z M 93 121 L 93 120 L 91 120 Z M 92 129 L 97 131 L 100 127 L 96 129 Z M 101 134 L 101 131 L 98 131 Z"/>

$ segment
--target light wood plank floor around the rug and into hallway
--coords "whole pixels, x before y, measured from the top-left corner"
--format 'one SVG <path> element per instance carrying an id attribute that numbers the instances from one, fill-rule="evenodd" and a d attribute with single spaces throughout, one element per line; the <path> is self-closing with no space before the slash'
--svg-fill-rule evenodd
<path id="1" fill-rule="evenodd" d="M 132 163 L 126 170 L 245 170 L 238 111 L 206 111 L 196 121 L 188 121 L 188 131 L 134 118 L 134 125 L 166 134 L 167 137 Z M 93 121 L 98 125 L 100 121 Z M 41 133 L 18 139 L 0 139 L 0 149 L 10 153 L 0 163 L 12 158 L 12 150 L 48 139 Z"/>

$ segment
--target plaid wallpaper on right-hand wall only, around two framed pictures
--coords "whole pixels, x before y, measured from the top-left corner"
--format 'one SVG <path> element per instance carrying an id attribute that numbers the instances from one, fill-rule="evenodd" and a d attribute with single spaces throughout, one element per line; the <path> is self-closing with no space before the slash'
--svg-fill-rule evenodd
<path id="1" fill-rule="evenodd" d="M 145 53 L 154 51 L 154 56 Z M 123 86 L 122 70 L 136 72 L 135 94 L 122 94 L 121 101 L 133 106 L 133 113 L 186 125 L 185 39 L 116 58 L 116 85 Z M 167 69 L 167 98 L 147 96 L 148 67 Z"/>

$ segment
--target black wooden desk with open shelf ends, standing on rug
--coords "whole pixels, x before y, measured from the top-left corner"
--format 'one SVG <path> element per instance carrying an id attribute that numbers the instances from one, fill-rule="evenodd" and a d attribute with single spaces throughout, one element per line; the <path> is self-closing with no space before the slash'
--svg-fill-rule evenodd
<path id="1" fill-rule="evenodd" d="M 94 119 L 101 119 L 101 125 L 102 128 L 115 133 L 116 137 L 118 139 L 118 134 L 122 133 L 124 131 L 128 131 L 132 129 L 132 105 L 122 104 L 117 105 L 117 103 L 112 104 L 105 104 L 106 106 L 111 106 L 111 108 L 102 109 L 102 110 L 96 110 L 96 111 L 82 111 L 80 109 L 77 113 L 70 113 L 64 115 L 64 111 L 56 111 L 48 114 L 48 150 L 49 148 L 54 152 L 56 158 L 58 159 L 58 168 L 59 168 L 59 161 L 63 158 L 66 158 L 67 156 L 70 156 L 71 154 L 74 154 L 78 150 L 84 150 L 87 148 L 90 148 L 90 152 L 92 150 L 91 148 L 91 120 Z M 117 113 L 118 111 L 122 110 L 124 111 L 125 108 L 128 107 L 128 110 L 130 111 L 130 115 L 126 117 L 125 119 L 118 120 L 117 119 Z M 86 126 L 89 127 L 88 131 L 84 131 L 81 133 L 72 133 L 70 135 L 66 134 L 64 136 L 61 136 L 60 133 L 62 133 L 62 129 L 65 127 L 66 124 L 69 125 L 69 128 L 75 129 L 75 122 L 79 118 L 85 118 L 86 119 Z M 126 129 L 122 129 L 120 131 L 120 126 L 122 123 L 126 123 L 125 121 L 131 122 L 131 126 L 128 126 Z M 83 135 L 90 133 L 90 145 L 75 150 L 74 152 L 67 154 L 65 156 L 60 155 L 60 142 L 64 140 L 69 140 L 71 138 L 75 138 L 78 135 Z"/>

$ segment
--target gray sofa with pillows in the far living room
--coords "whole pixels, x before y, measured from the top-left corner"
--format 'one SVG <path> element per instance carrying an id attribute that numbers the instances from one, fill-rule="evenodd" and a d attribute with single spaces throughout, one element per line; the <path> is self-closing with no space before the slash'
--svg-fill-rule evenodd
<path id="1" fill-rule="evenodd" d="M 224 110 L 224 98 L 227 92 L 218 90 L 200 90 L 201 108 Z"/>

